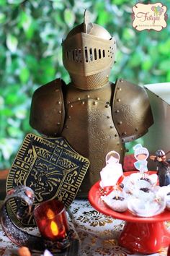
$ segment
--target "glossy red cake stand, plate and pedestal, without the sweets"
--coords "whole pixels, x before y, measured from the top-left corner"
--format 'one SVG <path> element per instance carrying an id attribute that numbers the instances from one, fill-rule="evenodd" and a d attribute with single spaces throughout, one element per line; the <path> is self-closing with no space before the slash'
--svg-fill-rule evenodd
<path id="1" fill-rule="evenodd" d="M 134 171 L 128 171 L 124 174 L 128 176 L 132 173 Z M 153 174 L 152 171 L 150 171 L 151 173 Z M 128 210 L 125 213 L 115 212 L 100 197 L 99 182 L 97 182 L 89 191 L 89 202 L 100 213 L 125 221 L 124 229 L 118 240 L 122 247 L 130 249 L 131 252 L 140 252 L 147 255 L 169 246 L 170 232 L 164 225 L 164 221 L 170 220 L 169 210 L 164 210 L 164 213 L 157 216 L 141 218 L 133 216 Z"/>

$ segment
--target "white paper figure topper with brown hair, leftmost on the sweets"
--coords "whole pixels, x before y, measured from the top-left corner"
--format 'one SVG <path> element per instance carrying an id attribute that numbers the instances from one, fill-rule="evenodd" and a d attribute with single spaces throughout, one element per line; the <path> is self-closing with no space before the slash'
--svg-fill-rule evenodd
<path id="1" fill-rule="evenodd" d="M 122 164 L 119 163 L 120 155 L 115 150 L 106 155 L 106 166 L 100 171 L 100 187 L 115 186 L 117 181 L 123 176 Z"/>

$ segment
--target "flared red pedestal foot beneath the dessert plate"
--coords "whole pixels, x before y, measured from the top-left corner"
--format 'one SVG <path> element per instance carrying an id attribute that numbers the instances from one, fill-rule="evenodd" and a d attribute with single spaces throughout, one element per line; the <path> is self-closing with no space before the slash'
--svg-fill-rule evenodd
<path id="1" fill-rule="evenodd" d="M 169 246 L 170 232 L 164 222 L 126 222 L 120 234 L 119 244 L 132 252 L 150 254 Z"/>

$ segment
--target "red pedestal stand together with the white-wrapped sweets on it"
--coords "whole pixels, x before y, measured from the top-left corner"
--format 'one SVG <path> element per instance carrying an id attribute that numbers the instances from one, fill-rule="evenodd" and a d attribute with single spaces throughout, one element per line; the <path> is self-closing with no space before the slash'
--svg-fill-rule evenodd
<path id="1" fill-rule="evenodd" d="M 140 153 L 145 150 L 139 148 Z M 112 173 L 116 170 L 114 164 Z M 102 179 L 104 169 L 101 173 Z M 156 171 L 139 169 L 123 173 L 121 179 L 116 174 L 109 187 L 97 182 L 89 191 L 89 201 L 100 213 L 125 221 L 119 237 L 121 246 L 146 255 L 170 244 L 170 232 L 164 225 L 170 220 L 169 195 L 170 186 L 158 186 Z"/>

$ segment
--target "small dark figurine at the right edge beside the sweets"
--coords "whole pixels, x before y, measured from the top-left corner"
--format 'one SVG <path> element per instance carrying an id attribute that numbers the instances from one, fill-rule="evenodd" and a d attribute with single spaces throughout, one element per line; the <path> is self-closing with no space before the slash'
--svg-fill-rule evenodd
<path id="1" fill-rule="evenodd" d="M 150 156 L 150 158 L 157 164 L 160 187 L 168 186 L 170 184 L 170 159 L 166 160 L 166 155 L 167 153 L 164 153 L 163 150 L 157 150 L 156 155 Z"/>

